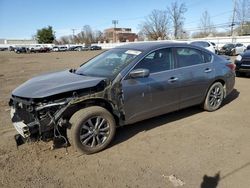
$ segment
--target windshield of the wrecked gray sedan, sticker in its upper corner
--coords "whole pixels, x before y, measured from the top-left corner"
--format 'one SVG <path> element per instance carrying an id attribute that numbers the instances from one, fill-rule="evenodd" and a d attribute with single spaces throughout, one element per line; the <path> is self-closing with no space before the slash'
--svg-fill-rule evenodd
<path id="1" fill-rule="evenodd" d="M 113 79 L 140 53 L 137 50 L 112 49 L 83 64 L 76 70 L 76 74 Z"/>

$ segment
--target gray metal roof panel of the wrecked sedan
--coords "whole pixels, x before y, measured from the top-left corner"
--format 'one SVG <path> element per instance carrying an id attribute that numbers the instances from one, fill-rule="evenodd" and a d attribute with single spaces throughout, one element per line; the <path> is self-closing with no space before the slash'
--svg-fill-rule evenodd
<path id="1" fill-rule="evenodd" d="M 130 43 L 130 44 L 125 44 L 122 46 L 118 46 L 116 48 L 125 48 L 125 49 L 133 49 L 133 50 L 139 50 L 139 51 L 150 51 L 150 50 L 154 50 L 156 48 L 162 48 L 162 47 L 179 47 L 179 46 L 183 46 L 183 47 L 188 47 L 188 46 L 192 46 L 197 48 L 197 46 L 194 45 L 190 45 L 187 44 L 185 42 L 138 42 L 138 43 Z"/>

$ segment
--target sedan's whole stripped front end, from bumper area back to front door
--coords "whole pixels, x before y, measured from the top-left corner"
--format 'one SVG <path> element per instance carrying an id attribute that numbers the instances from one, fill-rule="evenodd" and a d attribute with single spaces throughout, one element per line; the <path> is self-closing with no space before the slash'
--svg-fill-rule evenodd
<path id="1" fill-rule="evenodd" d="M 109 110 L 122 120 L 124 114 L 120 90 L 120 86 L 114 86 L 103 80 L 92 88 L 42 99 L 27 99 L 12 95 L 9 106 L 11 120 L 19 133 L 14 136 L 17 146 L 29 141 L 55 141 L 57 138 L 63 139 L 67 146 L 66 130 L 71 126 L 70 117 L 79 108 L 93 105 L 98 99 L 107 101 L 111 107 Z"/>

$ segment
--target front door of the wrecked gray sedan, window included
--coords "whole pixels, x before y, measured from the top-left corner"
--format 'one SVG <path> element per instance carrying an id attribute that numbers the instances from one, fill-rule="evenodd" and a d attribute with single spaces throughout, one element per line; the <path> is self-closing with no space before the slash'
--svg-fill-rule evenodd
<path id="1" fill-rule="evenodd" d="M 148 69 L 144 78 L 122 80 L 126 124 L 179 108 L 180 73 L 173 69 L 171 48 L 159 49 L 141 60 L 133 70 Z"/>

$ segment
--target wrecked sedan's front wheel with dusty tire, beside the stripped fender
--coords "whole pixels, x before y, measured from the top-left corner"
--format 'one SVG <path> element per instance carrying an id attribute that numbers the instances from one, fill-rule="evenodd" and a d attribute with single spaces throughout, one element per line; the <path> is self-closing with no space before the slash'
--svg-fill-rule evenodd
<path id="1" fill-rule="evenodd" d="M 92 154 L 106 148 L 112 141 L 116 123 L 105 108 L 92 106 L 77 111 L 70 119 L 67 135 L 71 145 L 84 154 Z"/>

